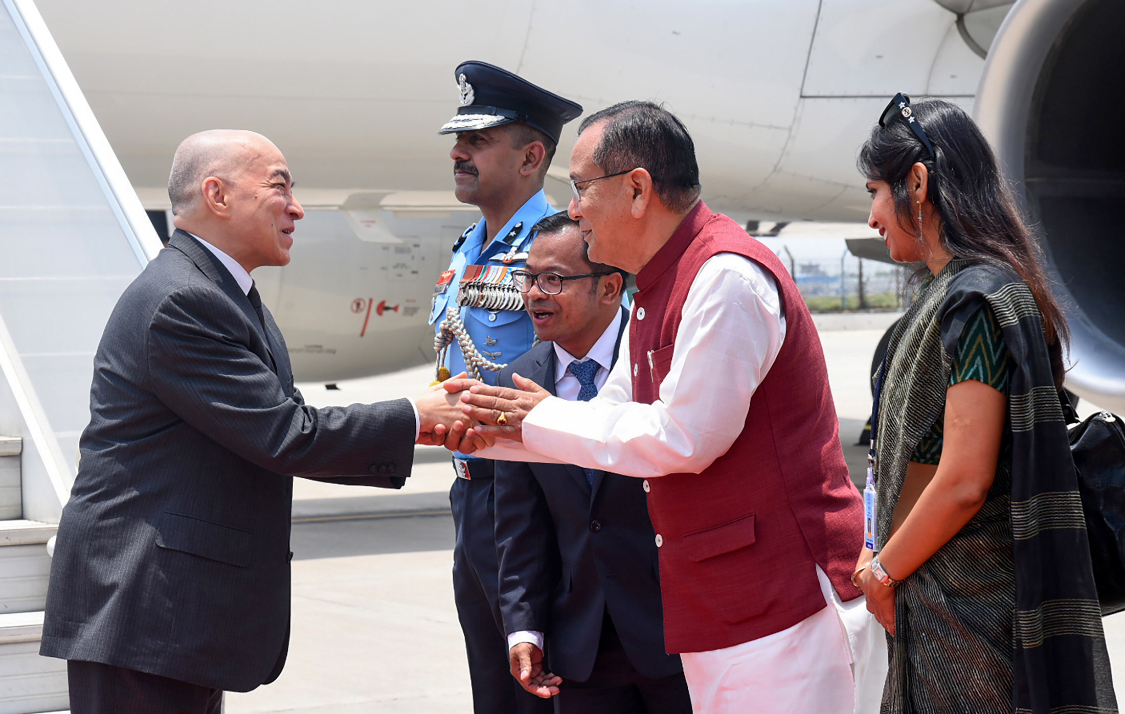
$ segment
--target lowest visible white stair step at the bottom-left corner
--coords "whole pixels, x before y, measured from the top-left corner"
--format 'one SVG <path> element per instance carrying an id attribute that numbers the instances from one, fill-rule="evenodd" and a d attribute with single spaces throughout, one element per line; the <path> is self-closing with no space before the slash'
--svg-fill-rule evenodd
<path id="1" fill-rule="evenodd" d="M 43 612 L 0 614 L 0 714 L 70 706 L 66 662 L 39 657 Z"/>

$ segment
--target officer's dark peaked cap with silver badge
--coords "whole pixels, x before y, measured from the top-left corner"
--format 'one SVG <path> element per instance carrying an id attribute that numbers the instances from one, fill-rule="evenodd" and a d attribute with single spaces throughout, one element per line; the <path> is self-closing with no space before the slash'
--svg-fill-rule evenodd
<path id="1" fill-rule="evenodd" d="M 453 79 L 460 91 L 461 108 L 439 134 L 520 121 L 558 142 L 562 125 L 582 116 L 582 105 L 487 62 L 462 62 L 453 71 Z"/>

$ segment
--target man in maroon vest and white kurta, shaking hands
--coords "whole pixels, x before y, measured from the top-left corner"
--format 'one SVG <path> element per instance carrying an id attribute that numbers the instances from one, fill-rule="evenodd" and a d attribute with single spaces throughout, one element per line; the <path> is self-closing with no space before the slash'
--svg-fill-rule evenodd
<path id="1" fill-rule="evenodd" d="M 587 403 L 474 386 L 466 413 L 494 426 L 466 442 L 645 479 L 696 712 L 853 712 L 874 638 L 850 581 L 863 506 L 796 286 L 700 200 L 692 139 L 651 102 L 587 118 L 570 179 L 591 260 L 637 273 L 621 359 Z"/>

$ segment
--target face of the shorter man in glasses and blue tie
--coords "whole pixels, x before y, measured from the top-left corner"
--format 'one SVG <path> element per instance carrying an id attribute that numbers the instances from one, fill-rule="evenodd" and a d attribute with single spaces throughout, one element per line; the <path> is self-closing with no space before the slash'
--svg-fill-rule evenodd
<path id="1" fill-rule="evenodd" d="M 583 275 L 598 272 L 583 255 L 582 236 L 575 227 L 542 233 L 528 255 L 528 272 Z M 536 335 L 559 343 L 570 354 L 583 358 L 605 329 L 605 315 L 616 315 L 621 301 L 618 273 L 564 280 L 562 292 L 547 295 L 533 284 L 523 293 Z M 606 307 L 608 306 L 608 307 Z"/>

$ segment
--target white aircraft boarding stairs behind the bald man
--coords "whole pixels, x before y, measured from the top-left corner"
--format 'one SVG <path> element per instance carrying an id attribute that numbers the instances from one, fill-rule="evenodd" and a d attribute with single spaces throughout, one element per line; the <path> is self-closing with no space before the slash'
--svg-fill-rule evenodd
<path id="1" fill-rule="evenodd" d="M 0 714 L 70 706 L 38 654 L 48 544 L 106 319 L 160 250 L 35 4 L 0 0 Z"/>

